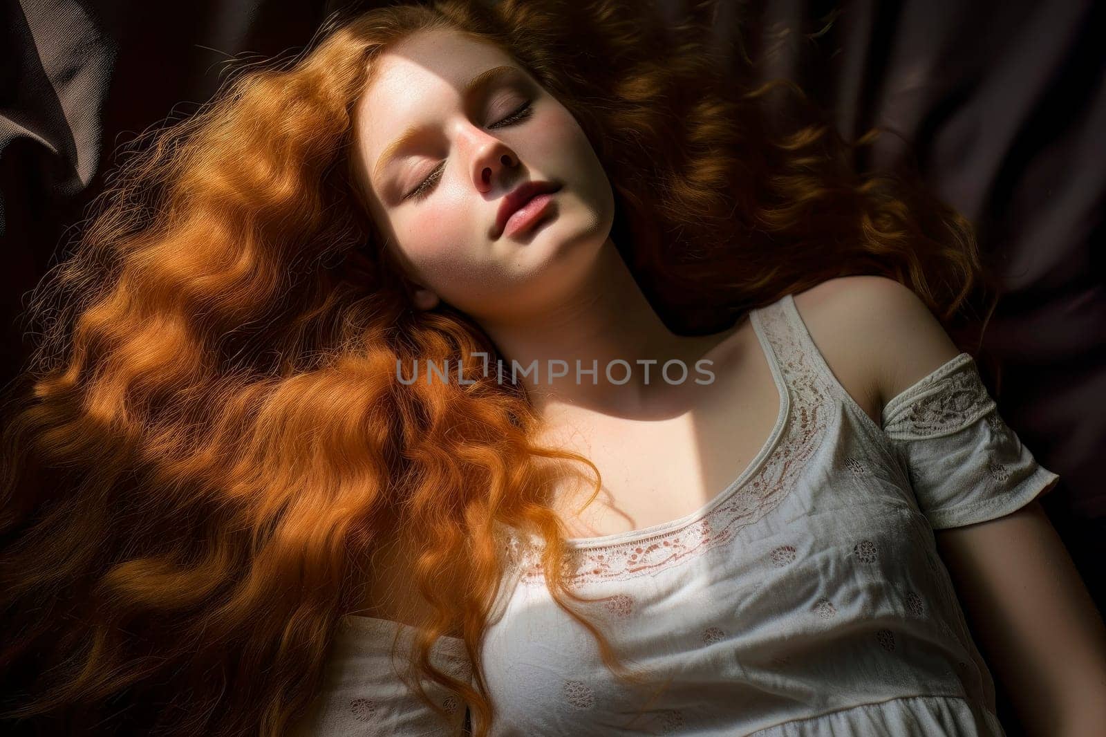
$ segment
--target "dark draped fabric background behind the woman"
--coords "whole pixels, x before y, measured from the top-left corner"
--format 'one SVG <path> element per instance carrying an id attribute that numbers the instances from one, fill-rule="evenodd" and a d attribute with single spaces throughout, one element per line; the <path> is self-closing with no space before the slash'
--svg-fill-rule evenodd
<path id="1" fill-rule="evenodd" d="M 17 322 L 27 292 L 64 253 L 119 147 L 194 111 L 229 59 L 296 51 L 349 4 L 0 0 L 0 382 L 31 347 Z M 374 4 L 387 3 L 358 7 Z M 659 0 L 671 19 L 685 4 Z M 1000 412 L 1060 474 L 1042 504 L 1106 611 L 1106 3 L 720 7 L 713 38 L 734 79 L 750 74 L 749 55 L 754 75 L 799 82 L 846 137 L 899 132 L 868 164 L 895 169 L 912 156 L 975 224 L 1005 290 L 981 350 L 1002 366 Z"/>

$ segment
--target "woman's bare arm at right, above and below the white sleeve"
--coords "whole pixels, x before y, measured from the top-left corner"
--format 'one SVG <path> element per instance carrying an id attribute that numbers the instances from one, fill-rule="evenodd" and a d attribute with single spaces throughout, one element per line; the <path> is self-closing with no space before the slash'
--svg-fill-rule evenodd
<path id="1" fill-rule="evenodd" d="M 959 350 L 909 289 L 881 277 L 832 280 L 832 309 L 856 328 L 880 406 Z M 1032 735 L 1100 734 L 1106 627 L 1037 501 L 935 530 L 964 614 Z"/>

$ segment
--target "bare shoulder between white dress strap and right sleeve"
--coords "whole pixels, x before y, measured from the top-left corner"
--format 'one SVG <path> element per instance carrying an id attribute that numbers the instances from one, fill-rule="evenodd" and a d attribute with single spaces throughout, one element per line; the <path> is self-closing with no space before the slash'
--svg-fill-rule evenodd
<path id="1" fill-rule="evenodd" d="M 794 300 L 831 370 L 870 396 L 877 417 L 888 399 L 960 352 L 926 303 L 894 279 L 827 279 Z"/>

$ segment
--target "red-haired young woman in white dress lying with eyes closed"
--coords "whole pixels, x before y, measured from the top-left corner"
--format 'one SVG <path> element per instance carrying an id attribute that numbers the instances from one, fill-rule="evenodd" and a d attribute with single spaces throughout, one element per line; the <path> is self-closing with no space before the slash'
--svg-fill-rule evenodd
<path id="1" fill-rule="evenodd" d="M 373 11 L 132 160 L 32 305 L 8 713 L 1001 735 L 990 662 L 1040 734 L 1102 724 L 1057 476 L 946 332 L 967 224 L 696 32 Z"/>

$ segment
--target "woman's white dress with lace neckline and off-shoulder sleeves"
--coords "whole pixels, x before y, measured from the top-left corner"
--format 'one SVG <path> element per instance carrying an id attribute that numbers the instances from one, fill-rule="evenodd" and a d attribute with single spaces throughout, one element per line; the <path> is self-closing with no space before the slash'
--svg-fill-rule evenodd
<path id="1" fill-rule="evenodd" d="M 750 319 L 781 404 L 749 467 L 680 519 L 571 541 L 576 590 L 603 598 L 575 606 L 653 687 L 611 675 L 550 598 L 538 539 L 510 536 L 482 643 L 494 735 L 1004 734 L 932 530 L 1009 515 L 1058 476 L 1000 418 L 969 354 L 889 401 L 880 428 L 791 295 Z M 389 646 L 409 632 L 346 617 L 298 734 L 461 734 L 447 692 L 429 688 L 448 723 L 396 677 Z M 436 647 L 469 672 L 460 640 Z"/>

